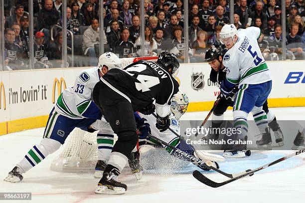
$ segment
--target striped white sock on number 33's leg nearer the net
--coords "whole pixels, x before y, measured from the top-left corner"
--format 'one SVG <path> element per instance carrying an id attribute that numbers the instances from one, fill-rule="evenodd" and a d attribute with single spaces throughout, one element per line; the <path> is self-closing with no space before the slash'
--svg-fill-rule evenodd
<path id="1" fill-rule="evenodd" d="M 114 135 L 97 134 L 96 137 L 98 143 L 98 159 L 108 161 L 111 151 L 113 149 Z"/>

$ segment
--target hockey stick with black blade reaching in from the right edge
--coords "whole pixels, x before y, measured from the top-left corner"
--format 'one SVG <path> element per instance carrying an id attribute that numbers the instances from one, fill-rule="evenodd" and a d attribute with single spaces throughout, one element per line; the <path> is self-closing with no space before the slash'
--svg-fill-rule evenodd
<path id="1" fill-rule="evenodd" d="M 254 173 L 256 173 L 256 172 L 258 172 L 258 171 L 260 171 L 260 170 L 266 169 L 266 168 L 268 168 L 268 167 L 270 167 L 270 166 L 273 166 L 273 165 L 275 165 L 275 164 L 277 164 L 277 163 L 280 163 L 280 162 L 282 162 L 282 161 L 285 161 L 285 160 L 287 160 L 287 159 L 289 159 L 289 158 L 291 158 L 291 157 L 297 156 L 297 155 L 302 154 L 302 153 L 304 153 L 304 152 L 305 152 L 305 148 L 302 149 L 302 150 L 299 150 L 299 151 L 297 151 L 297 152 L 294 152 L 294 153 L 292 153 L 292 154 L 290 154 L 290 155 L 288 155 L 288 156 L 286 156 L 286 157 L 282 157 L 282 158 L 280 158 L 280 159 L 278 159 L 278 160 L 276 160 L 276 161 L 274 161 L 274 162 L 271 162 L 271 163 L 269 163 L 269 164 L 265 164 L 265 165 L 263 165 L 263 166 L 261 166 L 261 167 L 258 167 L 258 168 L 254 169 L 254 170 L 250 170 L 250 169 L 249 169 L 249 170 L 247 170 L 247 171 L 245 171 L 245 172 L 242 172 L 242 173 L 239 173 L 239 174 L 235 174 L 235 175 L 233 175 L 233 177 L 234 177 L 233 179 L 224 181 L 224 182 L 222 182 L 222 183 L 216 183 L 216 182 L 214 182 L 214 181 L 212 181 L 212 180 L 206 178 L 206 177 L 205 177 L 203 174 L 201 174 L 199 171 L 193 171 L 193 177 L 194 177 L 195 179 L 197 179 L 198 181 L 200 181 L 201 183 L 207 185 L 207 186 L 210 186 L 210 187 L 212 187 L 212 188 L 218 188 L 218 187 L 224 186 L 224 185 L 226 185 L 226 184 L 228 184 L 228 183 L 231 183 L 231 182 L 233 182 L 233 181 L 236 181 L 236 180 L 238 180 L 238 179 L 242 179 L 242 178 L 245 178 L 245 177 L 247 177 L 247 176 L 253 176 Z"/>

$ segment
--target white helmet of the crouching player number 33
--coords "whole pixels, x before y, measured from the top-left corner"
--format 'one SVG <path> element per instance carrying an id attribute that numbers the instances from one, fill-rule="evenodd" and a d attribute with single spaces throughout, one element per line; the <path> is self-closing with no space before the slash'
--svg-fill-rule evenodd
<path id="1" fill-rule="evenodd" d="M 105 52 L 100 55 L 98 68 L 101 70 L 104 65 L 108 67 L 108 70 L 112 68 L 123 68 L 122 60 L 113 52 Z"/>

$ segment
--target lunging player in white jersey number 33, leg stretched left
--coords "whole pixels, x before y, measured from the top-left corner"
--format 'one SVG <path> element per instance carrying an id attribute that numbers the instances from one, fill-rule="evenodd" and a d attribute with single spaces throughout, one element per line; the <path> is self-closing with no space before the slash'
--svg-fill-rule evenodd
<path id="1" fill-rule="evenodd" d="M 74 86 L 65 89 L 59 96 L 49 115 L 43 139 L 28 151 L 4 180 L 11 183 L 21 182 L 22 174 L 36 166 L 49 154 L 58 150 L 74 128 L 78 127 L 88 131 L 91 124 L 96 120 L 101 120 L 100 109 L 91 100 L 93 88 L 109 69 L 121 67 L 121 59 L 112 52 L 106 52 L 100 56 L 97 67 L 82 71 L 77 76 Z M 98 133 L 98 142 L 99 139 L 101 141 L 107 139 L 107 141 L 112 141 L 113 144 L 114 133 L 109 123 L 101 120 L 99 124 L 101 124 L 100 127 L 103 130 Z M 107 143 L 109 142 L 100 142 L 101 146 L 99 148 L 107 147 Z M 110 152 L 107 150 L 99 152 L 99 158 L 108 157 Z"/>

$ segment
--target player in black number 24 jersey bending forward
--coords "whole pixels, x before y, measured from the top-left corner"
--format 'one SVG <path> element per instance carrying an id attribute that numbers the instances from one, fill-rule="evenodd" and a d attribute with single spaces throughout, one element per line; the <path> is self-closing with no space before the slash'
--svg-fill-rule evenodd
<path id="1" fill-rule="evenodd" d="M 168 129 L 170 99 L 179 86 L 174 79 L 178 68 L 176 56 L 162 52 L 157 62 L 141 60 L 124 70 L 110 70 L 95 85 L 94 102 L 118 135 L 96 193 L 122 194 L 127 190 L 127 186 L 118 181 L 118 176 L 138 141 L 134 112 L 150 114 L 155 109 L 157 129 L 160 132 Z"/>

